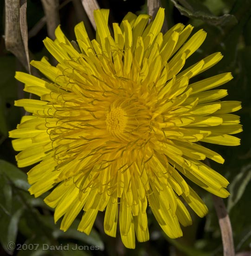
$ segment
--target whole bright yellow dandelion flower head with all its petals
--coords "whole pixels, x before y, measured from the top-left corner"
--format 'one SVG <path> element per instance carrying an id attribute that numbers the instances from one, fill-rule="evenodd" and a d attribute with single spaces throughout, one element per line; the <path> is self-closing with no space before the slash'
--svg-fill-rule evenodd
<path id="1" fill-rule="evenodd" d="M 187 184 L 227 197 L 228 181 L 202 161 L 223 163 L 199 141 L 239 145 L 232 136 L 242 128 L 238 101 L 220 85 L 230 73 L 197 82 L 190 79 L 222 58 L 214 53 L 184 69 L 187 58 L 203 43 L 206 33 L 177 24 L 162 34 L 164 9 L 148 24 L 149 15 L 128 13 L 108 28 L 109 10 L 94 12 L 96 40 L 84 23 L 75 27 L 77 44 L 60 27 L 56 40 L 45 47 L 58 61 L 43 58 L 31 64 L 45 75 L 22 72 L 16 79 L 40 100 L 22 99 L 16 106 L 24 116 L 10 131 L 19 167 L 37 163 L 28 172 L 29 189 L 36 197 L 51 193 L 45 202 L 55 208 L 55 222 L 67 230 L 80 212 L 78 230 L 89 234 L 98 211 L 105 211 L 104 231 L 135 248 L 149 239 L 147 207 L 171 238 L 182 236 L 180 224 L 192 223 L 184 203 L 200 217 L 207 208 Z M 216 89 L 215 89 L 216 88 Z"/>

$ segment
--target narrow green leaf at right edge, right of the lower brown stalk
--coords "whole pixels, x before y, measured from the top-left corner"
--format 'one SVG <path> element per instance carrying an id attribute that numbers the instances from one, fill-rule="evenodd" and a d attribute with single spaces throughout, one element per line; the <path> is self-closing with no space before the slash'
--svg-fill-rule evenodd
<path id="1" fill-rule="evenodd" d="M 240 169 L 234 180 L 229 185 L 230 196 L 228 197 L 227 209 L 230 211 L 241 199 L 246 186 L 251 181 L 251 163 Z"/>

